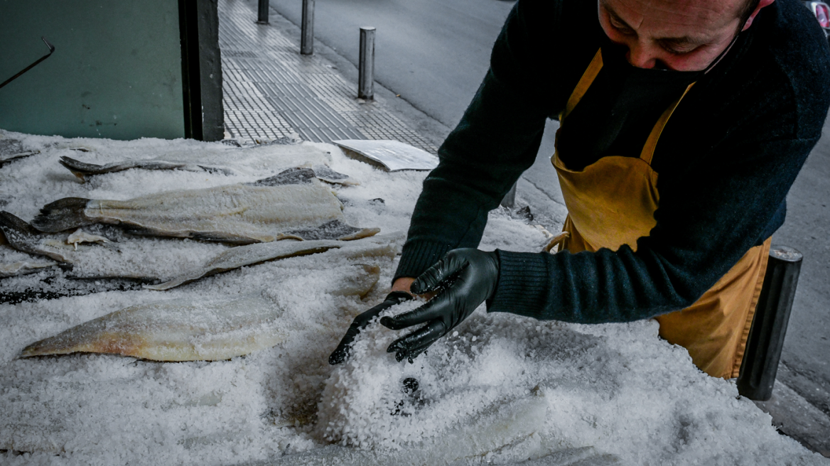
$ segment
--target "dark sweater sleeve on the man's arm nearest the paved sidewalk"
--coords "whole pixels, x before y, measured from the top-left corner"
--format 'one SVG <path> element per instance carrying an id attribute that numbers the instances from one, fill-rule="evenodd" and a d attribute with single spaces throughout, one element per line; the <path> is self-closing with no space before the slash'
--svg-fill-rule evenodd
<path id="1" fill-rule="evenodd" d="M 534 54 L 556 24 L 559 2 L 520 0 L 491 55 L 491 67 L 461 122 L 438 149 L 439 164 L 423 182 L 395 273 L 417 277 L 448 250 L 476 247 L 487 221 L 534 162 L 544 120 L 562 100 Z M 553 83 L 553 88 L 558 89 Z M 561 92 L 559 93 L 561 94 Z"/>

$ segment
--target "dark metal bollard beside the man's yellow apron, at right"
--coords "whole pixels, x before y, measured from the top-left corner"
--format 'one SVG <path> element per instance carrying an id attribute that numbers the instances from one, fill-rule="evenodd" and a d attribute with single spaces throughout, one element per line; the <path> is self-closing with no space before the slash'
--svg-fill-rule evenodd
<path id="1" fill-rule="evenodd" d="M 788 246 L 773 245 L 769 249 L 764 287 L 749 328 L 737 381 L 738 393 L 749 400 L 766 401 L 773 395 L 802 258 L 798 250 Z"/>

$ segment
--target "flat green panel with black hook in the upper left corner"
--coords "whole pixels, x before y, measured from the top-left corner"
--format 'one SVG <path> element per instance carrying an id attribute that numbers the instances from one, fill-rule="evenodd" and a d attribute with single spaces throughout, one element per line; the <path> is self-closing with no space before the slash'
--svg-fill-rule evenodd
<path id="1" fill-rule="evenodd" d="M 178 0 L 0 0 L 0 129 L 183 138 Z"/>

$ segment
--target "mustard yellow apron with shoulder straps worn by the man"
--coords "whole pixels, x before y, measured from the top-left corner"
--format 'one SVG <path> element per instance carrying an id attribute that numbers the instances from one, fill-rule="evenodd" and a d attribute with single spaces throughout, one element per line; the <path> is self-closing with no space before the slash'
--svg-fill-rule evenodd
<path id="1" fill-rule="evenodd" d="M 602 67 L 600 50 L 559 115 L 560 129 Z M 581 171 L 574 171 L 564 166 L 557 148 L 552 161 L 568 207 L 563 230 L 570 234 L 560 250 L 618 250 L 622 245 L 637 250 L 637 239 L 650 234 L 657 225 L 654 212 L 660 201 L 657 172 L 651 167 L 654 148 L 666 122 L 692 85 L 657 120 L 640 158 L 603 157 Z M 732 378 L 739 374 L 764 281 L 769 242 L 770 239 L 747 251 L 691 307 L 657 317 L 660 336 L 686 347 L 692 362 L 710 376 Z"/>

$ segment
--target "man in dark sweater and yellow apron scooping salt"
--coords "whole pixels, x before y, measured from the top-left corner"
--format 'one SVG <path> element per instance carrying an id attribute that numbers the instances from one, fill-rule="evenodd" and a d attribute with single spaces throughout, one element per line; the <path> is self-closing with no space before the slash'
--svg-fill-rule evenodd
<path id="1" fill-rule="evenodd" d="M 657 318 L 701 370 L 738 376 L 769 238 L 828 89 L 827 43 L 795 0 L 520 0 L 424 182 L 393 292 L 330 362 L 383 309 L 439 290 L 381 319 L 422 324 L 388 348 L 398 361 L 486 301 L 574 323 Z M 547 117 L 560 122 L 564 250 L 473 249 Z"/>

